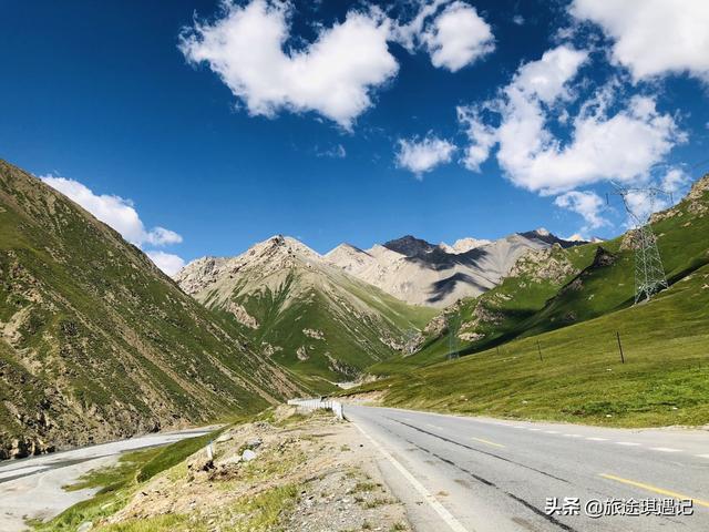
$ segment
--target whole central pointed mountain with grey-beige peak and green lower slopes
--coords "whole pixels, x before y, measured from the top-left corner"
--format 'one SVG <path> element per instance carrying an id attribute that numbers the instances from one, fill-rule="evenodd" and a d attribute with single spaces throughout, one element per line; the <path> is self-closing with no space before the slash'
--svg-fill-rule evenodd
<path id="1" fill-rule="evenodd" d="M 314 391 L 391 358 L 407 331 L 435 314 L 356 279 L 288 237 L 218 260 L 197 260 L 177 279 Z"/>

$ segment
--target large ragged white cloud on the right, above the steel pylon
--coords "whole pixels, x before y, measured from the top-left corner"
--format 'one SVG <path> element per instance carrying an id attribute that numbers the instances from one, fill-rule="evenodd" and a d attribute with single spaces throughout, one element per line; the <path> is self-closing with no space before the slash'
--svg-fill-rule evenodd
<path id="1" fill-rule="evenodd" d="M 487 103 L 500 114 L 500 125 L 471 127 L 463 114 L 476 170 L 492 142 L 497 161 L 517 186 L 542 194 L 559 194 L 604 180 L 631 182 L 645 178 L 686 135 L 669 114 L 659 113 L 655 100 L 636 95 L 615 114 L 608 112 L 614 91 L 599 91 L 571 121 L 571 134 L 562 142 L 548 127 L 552 113 L 568 111 L 576 94 L 568 86 L 587 61 L 585 51 L 561 45 L 542 59 L 521 66 L 501 96 Z M 558 109 L 562 111 L 558 111 Z M 460 116 L 460 113 L 459 113 Z"/>

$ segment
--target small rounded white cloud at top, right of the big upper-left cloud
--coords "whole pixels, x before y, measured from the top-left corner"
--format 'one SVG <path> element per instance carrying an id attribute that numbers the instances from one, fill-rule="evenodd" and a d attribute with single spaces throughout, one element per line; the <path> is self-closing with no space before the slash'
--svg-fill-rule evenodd
<path id="1" fill-rule="evenodd" d="M 495 49 L 492 30 L 475 8 L 453 2 L 427 28 L 422 41 L 431 63 L 456 72 Z"/>

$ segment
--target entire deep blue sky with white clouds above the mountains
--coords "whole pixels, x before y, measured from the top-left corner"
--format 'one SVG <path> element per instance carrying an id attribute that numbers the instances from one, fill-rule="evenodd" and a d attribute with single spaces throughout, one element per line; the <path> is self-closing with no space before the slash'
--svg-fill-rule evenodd
<path id="1" fill-rule="evenodd" d="M 608 181 L 679 195 L 709 136 L 708 4 L 614 3 L 2 2 L 0 157 L 167 270 L 276 233 L 613 236 Z"/>

